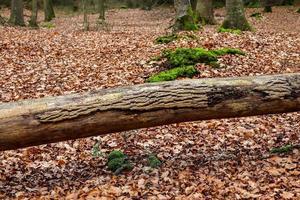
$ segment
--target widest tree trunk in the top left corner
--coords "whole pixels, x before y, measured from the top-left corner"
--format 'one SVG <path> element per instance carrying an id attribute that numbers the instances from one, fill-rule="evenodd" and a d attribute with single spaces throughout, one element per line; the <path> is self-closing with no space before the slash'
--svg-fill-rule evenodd
<path id="1" fill-rule="evenodd" d="M 23 15 L 23 0 L 11 1 L 11 11 L 8 22 L 15 26 L 25 26 Z"/>

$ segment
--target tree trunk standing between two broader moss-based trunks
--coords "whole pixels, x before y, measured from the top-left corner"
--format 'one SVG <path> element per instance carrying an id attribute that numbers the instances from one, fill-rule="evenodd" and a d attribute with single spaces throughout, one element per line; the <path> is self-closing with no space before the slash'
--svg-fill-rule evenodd
<path id="1" fill-rule="evenodd" d="M 198 0 L 197 15 L 204 24 L 216 24 L 212 0 Z"/>

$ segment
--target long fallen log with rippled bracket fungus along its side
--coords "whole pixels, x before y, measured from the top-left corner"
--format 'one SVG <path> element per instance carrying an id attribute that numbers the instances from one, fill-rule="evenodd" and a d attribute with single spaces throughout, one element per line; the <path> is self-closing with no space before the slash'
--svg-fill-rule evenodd
<path id="1" fill-rule="evenodd" d="M 177 122 L 300 111 L 300 73 L 142 84 L 0 104 L 0 150 Z"/>

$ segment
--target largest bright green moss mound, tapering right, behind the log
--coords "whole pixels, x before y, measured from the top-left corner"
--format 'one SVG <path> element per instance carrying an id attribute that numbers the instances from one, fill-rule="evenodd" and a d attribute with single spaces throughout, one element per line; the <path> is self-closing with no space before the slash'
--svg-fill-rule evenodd
<path id="1" fill-rule="evenodd" d="M 197 63 L 205 63 L 216 66 L 218 57 L 225 54 L 245 55 L 245 53 L 241 50 L 231 48 L 217 50 L 206 50 L 203 48 L 177 48 L 174 51 L 165 51 L 163 53 L 163 57 L 167 59 L 168 64 L 172 68 L 195 65 Z"/>

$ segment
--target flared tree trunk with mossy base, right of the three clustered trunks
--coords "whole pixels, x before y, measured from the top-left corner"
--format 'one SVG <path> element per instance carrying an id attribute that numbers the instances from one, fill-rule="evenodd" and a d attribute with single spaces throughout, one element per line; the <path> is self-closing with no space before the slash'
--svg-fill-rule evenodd
<path id="1" fill-rule="evenodd" d="M 226 18 L 222 24 L 226 29 L 251 30 L 244 11 L 243 0 L 226 0 Z"/>

